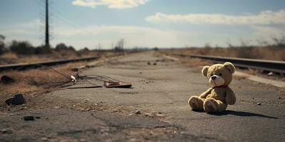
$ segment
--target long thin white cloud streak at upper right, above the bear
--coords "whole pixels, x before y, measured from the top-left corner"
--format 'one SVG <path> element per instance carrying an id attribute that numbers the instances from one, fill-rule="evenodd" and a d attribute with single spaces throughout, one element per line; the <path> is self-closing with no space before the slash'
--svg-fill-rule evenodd
<path id="1" fill-rule="evenodd" d="M 269 25 L 285 23 L 285 10 L 261 11 L 260 13 L 232 16 L 226 14 L 190 13 L 186 15 L 155 13 L 147 16 L 146 21 L 152 23 L 193 23 L 193 24 L 224 24 L 224 25 Z"/>

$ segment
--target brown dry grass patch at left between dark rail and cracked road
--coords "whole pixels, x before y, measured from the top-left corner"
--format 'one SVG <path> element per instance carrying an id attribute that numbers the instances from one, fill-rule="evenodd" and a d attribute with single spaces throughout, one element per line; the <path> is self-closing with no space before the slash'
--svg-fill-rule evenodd
<path id="1" fill-rule="evenodd" d="M 86 65 L 86 62 L 70 63 L 60 67 L 53 67 L 53 69 L 63 72 L 64 75 L 69 77 L 74 74 L 74 72 L 71 71 L 71 68 L 81 65 Z M 4 105 L 5 100 L 11 97 L 12 94 L 21 93 L 26 95 L 32 92 L 46 92 L 70 81 L 68 78 L 50 68 L 26 70 L 21 72 L 1 72 L 0 77 L 2 75 L 8 75 L 9 77 L 14 78 L 16 82 L 11 84 L 0 83 L 0 106 Z"/>

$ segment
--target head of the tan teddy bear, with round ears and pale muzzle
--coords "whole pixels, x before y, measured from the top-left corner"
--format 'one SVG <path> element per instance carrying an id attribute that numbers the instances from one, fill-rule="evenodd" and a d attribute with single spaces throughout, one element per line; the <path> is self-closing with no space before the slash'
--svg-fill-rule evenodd
<path id="1" fill-rule="evenodd" d="M 229 85 L 232 82 L 232 74 L 235 67 L 231 62 L 224 62 L 224 64 L 214 64 L 212 66 L 204 66 L 202 75 L 207 77 L 209 84 L 212 87 L 219 87 Z"/>

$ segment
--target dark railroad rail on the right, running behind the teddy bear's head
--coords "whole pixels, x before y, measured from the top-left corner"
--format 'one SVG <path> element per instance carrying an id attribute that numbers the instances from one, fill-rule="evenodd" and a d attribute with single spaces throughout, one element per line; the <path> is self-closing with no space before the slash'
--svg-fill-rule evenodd
<path id="1" fill-rule="evenodd" d="M 237 67 L 252 68 L 266 72 L 276 72 L 285 75 L 285 62 L 275 60 L 256 60 L 247 58 L 225 58 L 210 55 L 185 55 L 172 54 L 180 57 L 200 58 L 203 60 L 211 60 L 212 62 L 232 62 Z"/>

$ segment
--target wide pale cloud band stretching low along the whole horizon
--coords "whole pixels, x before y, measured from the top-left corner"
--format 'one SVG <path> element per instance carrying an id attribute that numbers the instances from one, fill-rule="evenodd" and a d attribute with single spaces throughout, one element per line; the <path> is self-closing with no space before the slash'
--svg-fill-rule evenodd
<path id="1" fill-rule="evenodd" d="M 16 23 L 9 25 L 0 24 L 0 34 L 6 36 L 6 41 L 28 40 L 33 45 L 40 45 L 44 31 L 38 31 L 40 21 L 34 20 L 26 23 Z M 98 43 L 102 48 L 111 48 L 120 38 L 125 39 L 125 47 L 159 47 L 159 48 L 182 48 L 188 46 L 203 46 L 204 43 L 211 45 L 227 45 L 230 42 L 239 45 L 240 39 L 257 39 L 271 41 L 272 37 L 284 35 L 285 26 L 252 25 L 247 28 L 244 26 L 222 26 L 227 29 L 213 29 L 212 26 L 191 26 L 192 28 L 152 28 L 147 26 L 86 26 L 74 28 L 73 26 L 55 25 L 51 32 L 53 39 L 51 44 L 58 43 L 73 45 L 76 49 L 88 47 L 94 49 Z"/>

